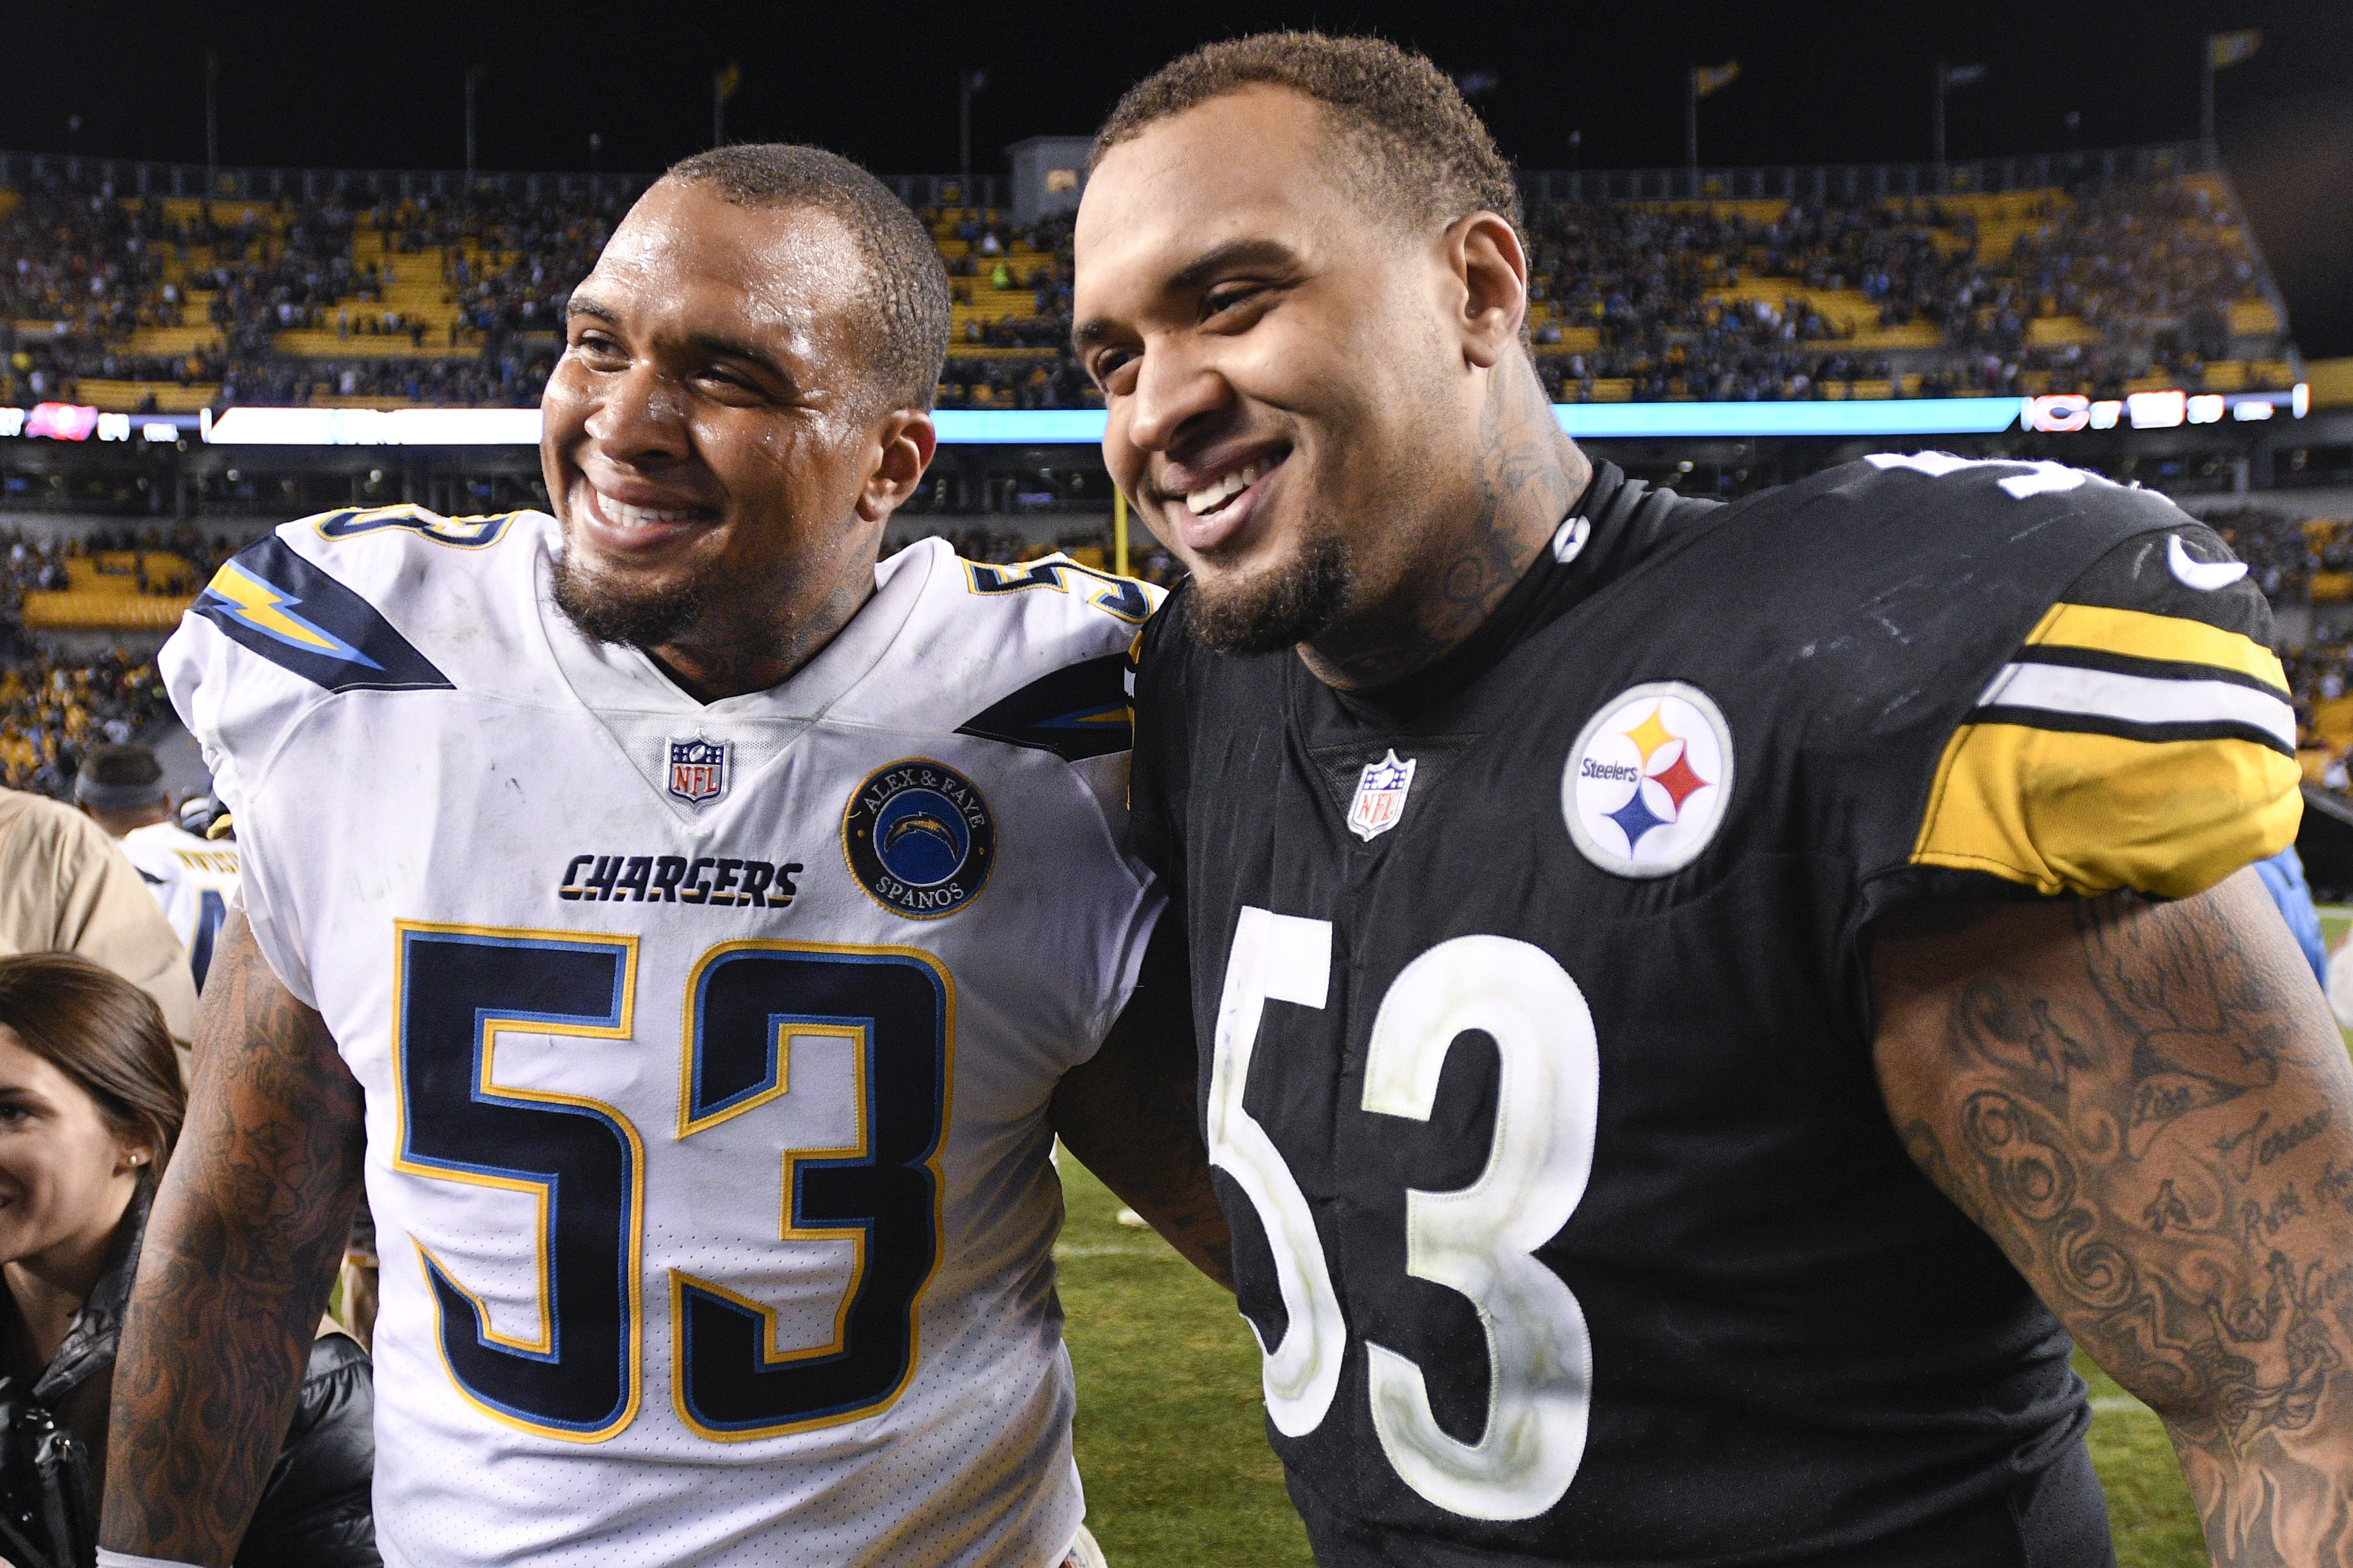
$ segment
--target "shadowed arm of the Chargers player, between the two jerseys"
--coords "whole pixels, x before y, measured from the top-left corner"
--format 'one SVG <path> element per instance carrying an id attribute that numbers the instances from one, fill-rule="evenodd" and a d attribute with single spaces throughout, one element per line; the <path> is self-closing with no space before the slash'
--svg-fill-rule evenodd
<path id="1" fill-rule="evenodd" d="M 1174 911 L 1104 1048 L 1064 1074 L 1047 1116 L 1064 1147 L 1172 1248 L 1233 1290 L 1233 1236 L 1209 1184 L 1186 944 Z"/>

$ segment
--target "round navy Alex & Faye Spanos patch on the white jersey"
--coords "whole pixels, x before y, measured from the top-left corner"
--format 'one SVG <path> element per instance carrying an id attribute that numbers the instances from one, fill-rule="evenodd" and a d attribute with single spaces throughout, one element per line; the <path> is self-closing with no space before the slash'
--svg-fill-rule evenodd
<path id="1" fill-rule="evenodd" d="M 842 812 L 842 857 L 882 909 L 936 921 L 981 897 L 998 822 L 965 775 L 929 758 L 878 768 Z"/>

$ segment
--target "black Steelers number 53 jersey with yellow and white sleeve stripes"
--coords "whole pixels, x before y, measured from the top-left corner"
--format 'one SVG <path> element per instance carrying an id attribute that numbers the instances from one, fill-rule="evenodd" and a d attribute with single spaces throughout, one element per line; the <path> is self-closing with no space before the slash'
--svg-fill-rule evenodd
<path id="1" fill-rule="evenodd" d="M 2294 836 L 2268 607 L 2162 497 L 1600 466 L 1398 687 L 1136 640 L 1271 1436 L 1327 1566 L 2106 1563 L 2068 1337 L 1906 1158 L 1861 935 Z"/>

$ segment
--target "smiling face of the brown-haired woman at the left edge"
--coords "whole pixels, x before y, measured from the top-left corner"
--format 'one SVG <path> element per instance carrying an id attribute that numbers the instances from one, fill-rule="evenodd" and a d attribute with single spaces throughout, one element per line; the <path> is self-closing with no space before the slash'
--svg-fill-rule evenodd
<path id="1" fill-rule="evenodd" d="M 0 1264 L 75 1274 L 104 1257 L 153 1154 L 0 1024 Z"/>

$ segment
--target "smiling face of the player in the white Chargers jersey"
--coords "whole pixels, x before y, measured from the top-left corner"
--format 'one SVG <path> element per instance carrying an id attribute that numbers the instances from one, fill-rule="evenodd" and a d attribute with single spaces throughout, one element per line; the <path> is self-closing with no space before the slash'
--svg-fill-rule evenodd
<path id="1" fill-rule="evenodd" d="M 873 591 L 932 421 L 878 407 L 864 268 L 819 207 L 678 179 L 638 200 L 572 294 L 541 403 L 581 631 L 729 695 L 798 669 Z"/>

